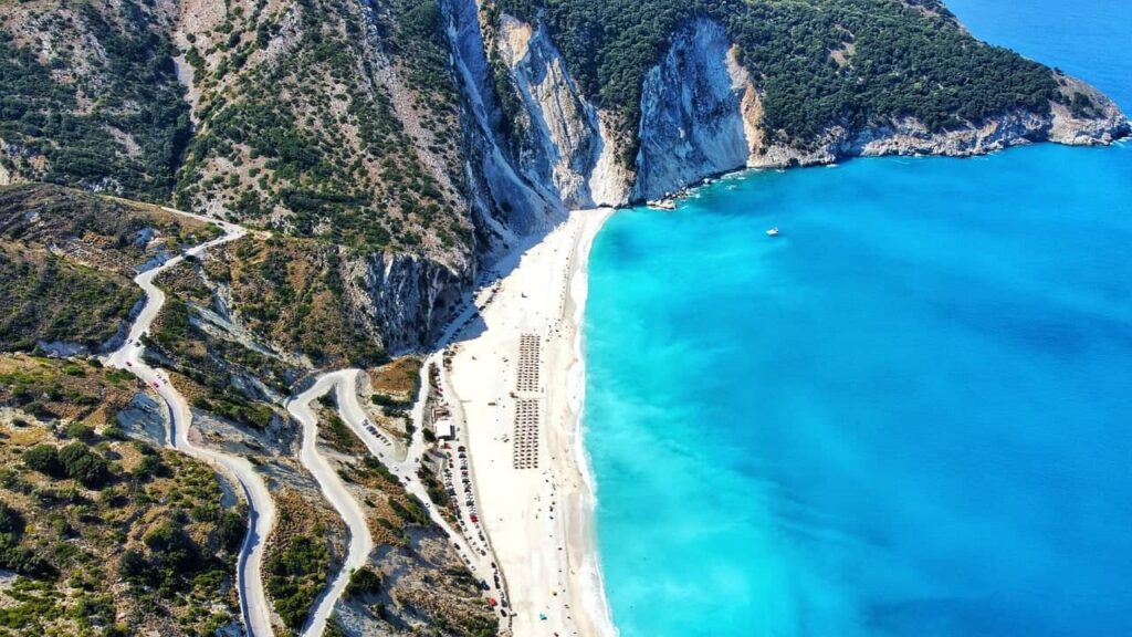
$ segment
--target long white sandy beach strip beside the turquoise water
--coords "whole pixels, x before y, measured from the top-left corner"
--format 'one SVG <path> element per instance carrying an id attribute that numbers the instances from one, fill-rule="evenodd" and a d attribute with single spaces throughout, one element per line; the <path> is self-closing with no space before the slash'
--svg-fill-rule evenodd
<path id="1" fill-rule="evenodd" d="M 611 213 L 573 212 L 537 245 L 505 258 L 498 265 L 505 278 L 477 298 L 481 306 L 491 298 L 481 313 L 486 328 L 473 321 L 457 337 L 446 374 L 466 422 L 477 502 L 509 593 L 515 637 L 616 634 L 598 568 L 578 421 L 585 267 Z M 520 393 L 522 334 L 537 334 L 541 347 L 538 388 Z M 537 468 L 513 465 L 518 399 L 538 407 Z"/>

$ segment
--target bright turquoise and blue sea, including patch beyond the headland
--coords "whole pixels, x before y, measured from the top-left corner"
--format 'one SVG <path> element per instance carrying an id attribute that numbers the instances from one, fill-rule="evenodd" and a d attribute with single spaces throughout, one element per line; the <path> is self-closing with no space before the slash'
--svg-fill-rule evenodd
<path id="1" fill-rule="evenodd" d="M 1132 110 L 1127 0 L 950 6 Z M 1132 635 L 1132 145 L 619 212 L 584 330 L 623 637 Z"/>

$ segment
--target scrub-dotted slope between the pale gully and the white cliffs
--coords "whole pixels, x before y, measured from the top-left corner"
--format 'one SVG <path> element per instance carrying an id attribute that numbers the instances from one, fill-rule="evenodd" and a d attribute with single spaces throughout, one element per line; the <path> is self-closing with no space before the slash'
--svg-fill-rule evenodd
<path id="1" fill-rule="evenodd" d="M 220 201 L 242 219 L 361 252 L 466 245 L 452 186 L 458 137 L 431 137 L 456 117 L 439 7 L 391 5 L 362 11 L 342 0 L 300 0 L 286 12 L 299 36 L 281 44 L 284 14 L 260 2 L 197 36 L 187 58 L 203 88 L 204 124 L 179 173 L 178 201 Z M 404 96 L 380 79 L 381 46 L 412 60 L 401 69 L 412 103 L 395 103 Z M 405 120 L 408 109 L 419 122 Z M 447 175 L 426 169 L 418 147 L 441 158 Z"/>

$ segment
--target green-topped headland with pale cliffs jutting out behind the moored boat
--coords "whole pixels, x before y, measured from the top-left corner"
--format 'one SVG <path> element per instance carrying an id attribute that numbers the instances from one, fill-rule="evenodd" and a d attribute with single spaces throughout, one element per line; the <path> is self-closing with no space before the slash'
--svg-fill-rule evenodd
<path id="1" fill-rule="evenodd" d="M 482 22 L 497 34 L 484 41 L 505 62 L 503 90 L 520 97 L 508 113 L 523 124 L 518 163 L 572 204 L 597 199 L 584 197 L 593 181 L 623 204 L 744 167 L 1107 144 L 1130 131 L 1094 87 L 977 42 L 938 2 L 869 6 L 500 0 Z M 821 44 L 796 42 L 807 35 Z M 599 170 L 594 148 L 616 169 Z"/>

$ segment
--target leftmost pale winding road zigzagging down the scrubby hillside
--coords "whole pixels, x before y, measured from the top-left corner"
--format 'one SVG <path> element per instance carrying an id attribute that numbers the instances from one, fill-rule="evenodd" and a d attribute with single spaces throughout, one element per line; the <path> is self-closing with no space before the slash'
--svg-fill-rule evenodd
<path id="1" fill-rule="evenodd" d="M 209 462 L 217 467 L 230 478 L 240 485 L 243 495 L 248 501 L 248 534 L 245 536 L 243 545 L 240 547 L 240 557 L 237 564 L 237 588 L 240 595 L 240 613 L 243 615 L 243 625 L 251 637 L 272 637 L 272 606 L 267 603 L 267 595 L 264 592 L 261 577 L 264 541 L 271 533 L 275 524 L 275 502 L 272 500 L 267 486 L 263 478 L 256 473 L 251 462 L 247 458 L 230 456 L 213 449 L 198 447 L 189 440 L 189 427 L 192 425 L 192 411 L 188 401 L 169 382 L 169 375 L 158 368 L 148 366 L 142 359 L 143 348 L 138 339 L 149 332 L 153 321 L 161 313 L 165 304 L 165 292 L 154 284 L 154 279 L 162 272 L 175 267 L 185 261 L 186 256 L 198 256 L 206 249 L 239 239 L 247 231 L 233 223 L 209 219 L 206 216 L 164 209 L 168 212 L 190 216 L 200 221 L 215 223 L 224 230 L 224 235 L 192 247 L 189 250 L 174 256 L 160 266 L 147 270 L 137 277 L 134 282 L 142 287 L 146 295 L 145 306 L 130 328 L 126 342 L 120 348 L 106 356 L 103 360 L 106 365 L 127 370 L 138 377 L 146 385 L 155 389 L 157 394 L 169 407 L 170 447 L 196 458 Z"/>

